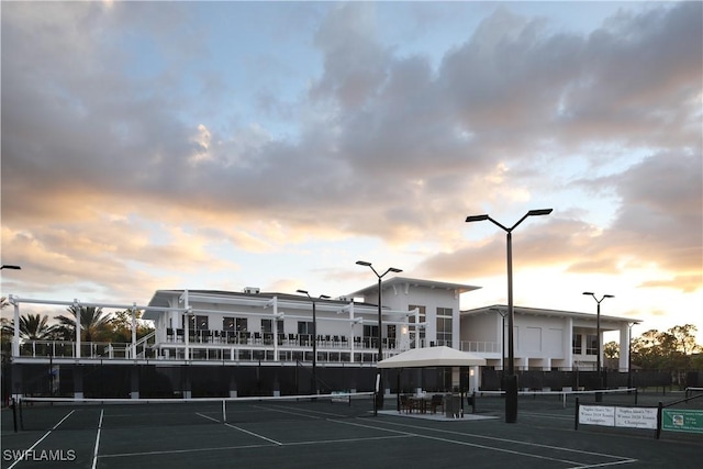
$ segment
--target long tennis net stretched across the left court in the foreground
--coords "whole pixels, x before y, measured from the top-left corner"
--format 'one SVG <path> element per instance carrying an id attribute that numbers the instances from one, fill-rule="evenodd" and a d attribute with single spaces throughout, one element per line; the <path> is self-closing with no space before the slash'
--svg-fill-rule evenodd
<path id="1" fill-rule="evenodd" d="M 200 399 L 22 398 L 22 429 L 127 428 L 373 415 L 372 392 Z"/>

